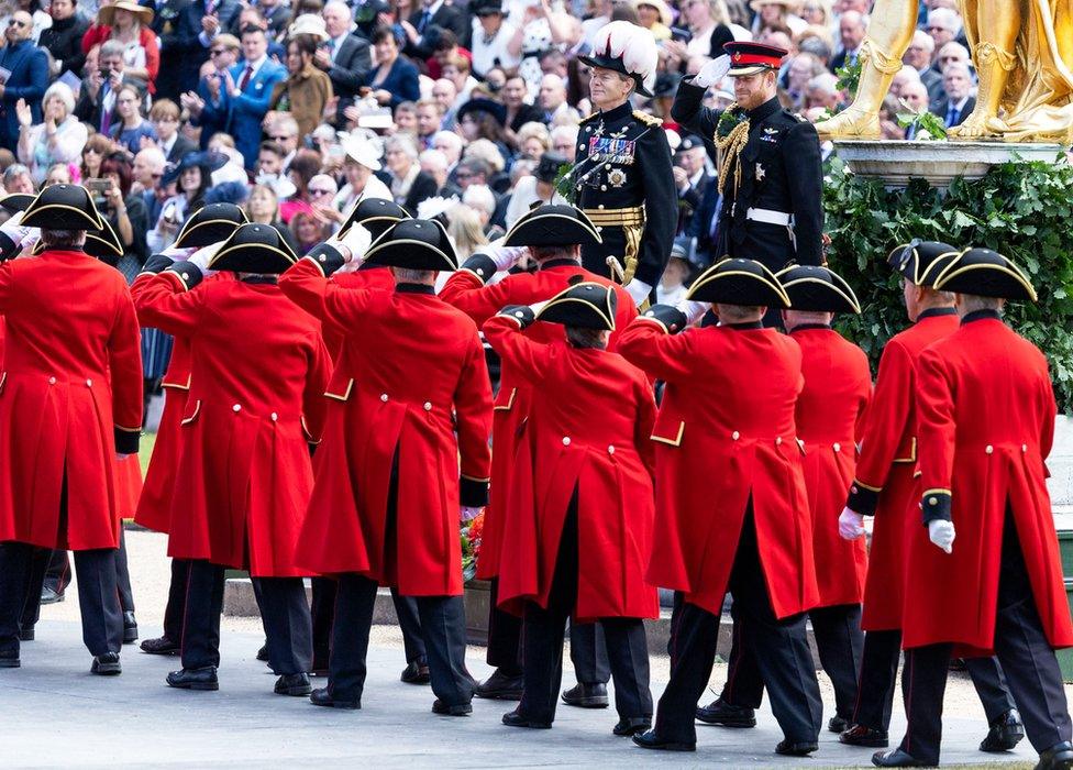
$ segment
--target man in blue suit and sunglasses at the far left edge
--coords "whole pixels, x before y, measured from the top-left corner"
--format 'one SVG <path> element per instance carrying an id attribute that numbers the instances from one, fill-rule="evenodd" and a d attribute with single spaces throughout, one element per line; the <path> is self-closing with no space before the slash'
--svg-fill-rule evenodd
<path id="1" fill-rule="evenodd" d="M 11 75 L 0 82 L 0 145 L 11 152 L 19 144 L 19 118 L 15 102 L 25 99 L 33 112 L 33 122 L 41 122 L 41 98 L 48 88 L 48 55 L 30 40 L 33 19 L 25 11 L 15 11 L 8 20 L 4 36 L 8 44 L 0 51 L 0 67 Z"/>

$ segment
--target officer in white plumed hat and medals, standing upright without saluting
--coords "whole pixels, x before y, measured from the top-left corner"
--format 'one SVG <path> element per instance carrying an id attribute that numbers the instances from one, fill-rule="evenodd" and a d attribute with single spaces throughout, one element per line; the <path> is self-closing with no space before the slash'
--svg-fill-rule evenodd
<path id="1" fill-rule="evenodd" d="M 582 264 L 620 279 L 639 305 L 660 283 L 678 221 L 666 133 L 630 105 L 634 90 L 651 96 L 657 57 L 652 33 L 637 24 L 613 21 L 597 33 L 580 57 L 593 67 L 597 111 L 582 121 L 569 175 L 574 200 L 602 237 L 582 248 Z"/>

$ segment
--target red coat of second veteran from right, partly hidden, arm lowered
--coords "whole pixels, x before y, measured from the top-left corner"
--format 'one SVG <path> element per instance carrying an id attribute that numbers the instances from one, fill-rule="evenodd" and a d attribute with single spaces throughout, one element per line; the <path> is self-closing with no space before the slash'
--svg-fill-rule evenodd
<path id="1" fill-rule="evenodd" d="M 925 348 L 956 329 L 953 308 L 926 310 L 915 324 L 891 338 L 880 359 L 854 480 L 855 487 L 878 495 L 861 622 L 869 631 L 901 628 L 905 540 L 920 526 L 920 487 L 914 477 L 917 363 Z"/>

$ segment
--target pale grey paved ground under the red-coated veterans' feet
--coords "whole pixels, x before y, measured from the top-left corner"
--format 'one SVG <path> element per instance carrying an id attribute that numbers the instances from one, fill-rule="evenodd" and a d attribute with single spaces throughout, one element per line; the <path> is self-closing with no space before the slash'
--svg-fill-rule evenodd
<path id="1" fill-rule="evenodd" d="M 166 588 L 164 539 L 129 534 L 131 570 L 143 635 L 158 632 Z M 44 608 L 37 641 L 23 648 L 23 668 L 0 671 L 0 767 L 347 767 L 499 768 L 540 766 L 867 766 L 870 750 L 851 749 L 829 733 L 812 759 L 785 760 L 772 754 L 782 737 L 770 712 L 752 730 L 698 728 L 696 755 L 659 755 L 611 736 L 612 711 L 562 707 L 550 732 L 511 729 L 499 717 L 511 704 L 475 702 L 466 718 L 431 714 L 427 688 L 398 681 L 402 668 L 396 629 L 376 629 L 369 654 L 369 682 L 361 712 L 311 706 L 305 698 L 272 694 L 274 679 L 254 659 L 262 642 L 258 623 L 228 618 L 219 693 L 177 692 L 164 685 L 175 659 L 125 648 L 122 676 L 88 673 L 74 592 L 63 604 Z M 489 672 L 483 650 L 471 649 L 474 675 Z M 666 659 L 653 660 L 653 691 L 666 681 Z M 712 676 L 726 676 L 719 666 Z M 569 681 L 567 672 L 564 678 Z M 831 711 L 825 682 L 825 701 Z M 976 751 L 983 715 L 966 679 L 954 675 L 945 704 L 948 765 L 1002 761 L 1031 767 L 1027 743 L 993 757 Z M 896 706 L 896 713 L 900 707 Z M 892 733 L 900 736 L 898 713 Z"/>

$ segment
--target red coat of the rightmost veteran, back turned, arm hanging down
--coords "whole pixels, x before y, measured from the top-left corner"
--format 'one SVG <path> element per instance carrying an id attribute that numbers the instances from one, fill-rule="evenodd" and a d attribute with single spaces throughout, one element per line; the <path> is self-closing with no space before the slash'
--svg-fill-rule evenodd
<path id="1" fill-rule="evenodd" d="M 1047 359 L 997 318 L 971 321 L 920 356 L 916 399 L 922 502 L 950 502 L 956 539 L 948 554 L 919 518 L 910 530 L 903 645 L 992 653 L 1008 505 L 1048 641 L 1073 646 L 1043 482 L 1055 413 Z"/>

